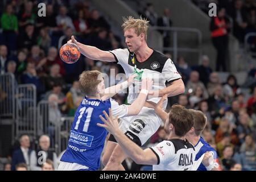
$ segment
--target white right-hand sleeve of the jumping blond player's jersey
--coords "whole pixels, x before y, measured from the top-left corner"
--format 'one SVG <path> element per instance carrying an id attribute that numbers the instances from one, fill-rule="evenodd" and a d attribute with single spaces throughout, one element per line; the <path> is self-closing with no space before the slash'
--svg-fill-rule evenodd
<path id="1" fill-rule="evenodd" d="M 167 59 L 166 63 L 164 64 L 162 73 L 167 81 L 172 81 L 181 78 L 180 73 L 177 72 L 174 62 L 171 59 Z"/>

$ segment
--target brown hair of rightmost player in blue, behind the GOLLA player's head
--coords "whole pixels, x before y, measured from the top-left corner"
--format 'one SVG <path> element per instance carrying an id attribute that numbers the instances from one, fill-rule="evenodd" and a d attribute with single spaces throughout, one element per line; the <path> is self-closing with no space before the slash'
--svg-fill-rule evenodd
<path id="1" fill-rule="evenodd" d="M 188 109 L 189 112 L 193 115 L 194 118 L 194 125 L 193 128 L 195 129 L 195 134 L 200 136 L 207 125 L 207 117 L 206 115 L 200 110 L 193 110 Z"/>

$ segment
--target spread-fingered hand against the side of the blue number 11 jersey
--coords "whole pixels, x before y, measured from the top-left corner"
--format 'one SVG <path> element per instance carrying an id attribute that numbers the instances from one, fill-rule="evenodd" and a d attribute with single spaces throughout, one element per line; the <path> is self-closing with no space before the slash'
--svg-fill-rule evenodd
<path id="1" fill-rule="evenodd" d="M 103 111 L 103 114 L 105 115 L 105 118 L 100 115 L 101 121 L 104 122 L 104 124 L 97 123 L 97 126 L 104 127 L 107 129 L 110 133 L 114 134 L 116 131 L 118 131 L 118 117 L 114 117 L 112 115 L 112 110 L 109 109 L 109 115 L 106 113 L 106 111 Z"/>

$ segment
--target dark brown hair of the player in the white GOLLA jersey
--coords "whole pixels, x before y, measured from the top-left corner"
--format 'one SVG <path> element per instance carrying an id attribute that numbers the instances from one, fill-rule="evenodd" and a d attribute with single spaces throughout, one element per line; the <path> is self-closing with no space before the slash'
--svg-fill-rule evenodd
<path id="1" fill-rule="evenodd" d="M 175 134 L 183 137 L 193 127 L 192 114 L 181 105 L 173 105 L 169 112 L 169 122 L 174 125 Z"/>

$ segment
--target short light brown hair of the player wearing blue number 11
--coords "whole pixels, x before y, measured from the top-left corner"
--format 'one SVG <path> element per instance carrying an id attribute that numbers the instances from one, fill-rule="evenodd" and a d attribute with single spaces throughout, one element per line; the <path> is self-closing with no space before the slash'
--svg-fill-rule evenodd
<path id="1" fill-rule="evenodd" d="M 94 96 L 97 92 L 97 86 L 101 80 L 99 71 L 84 71 L 79 76 L 79 87 L 86 96 Z"/>

